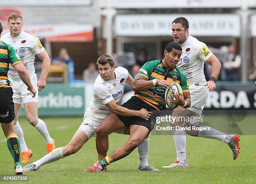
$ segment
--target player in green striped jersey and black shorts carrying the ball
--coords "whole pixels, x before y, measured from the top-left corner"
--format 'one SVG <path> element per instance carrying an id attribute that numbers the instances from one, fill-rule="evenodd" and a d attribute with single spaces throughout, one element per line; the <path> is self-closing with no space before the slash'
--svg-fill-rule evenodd
<path id="1" fill-rule="evenodd" d="M 154 113 L 166 109 L 164 93 L 158 93 L 158 86 L 172 88 L 171 83 L 176 82 L 182 87 L 183 94 L 175 94 L 176 100 L 173 102 L 183 108 L 189 108 L 191 101 L 187 77 L 176 67 L 181 54 L 181 46 L 178 43 L 170 42 L 164 49 L 163 60 L 145 63 L 133 83 L 135 95 L 122 106 L 133 110 L 145 108 L 148 111 L 154 111 L 153 116 Z M 154 129 L 154 124 L 155 122 L 152 122 L 151 118 L 145 120 L 134 116 L 125 117 L 110 113 L 97 128 L 96 147 L 100 161 L 92 164 L 91 171 L 102 171 L 110 163 L 130 154 Z M 125 126 L 130 127 L 130 137 L 127 143 L 107 156 L 108 135 Z"/>

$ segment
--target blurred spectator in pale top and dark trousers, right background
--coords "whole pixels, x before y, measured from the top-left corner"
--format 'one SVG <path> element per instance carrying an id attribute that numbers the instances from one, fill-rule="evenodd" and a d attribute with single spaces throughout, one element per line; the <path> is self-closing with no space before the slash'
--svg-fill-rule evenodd
<path id="1" fill-rule="evenodd" d="M 224 60 L 226 81 L 238 81 L 238 68 L 241 66 L 241 56 L 236 54 L 234 45 L 228 46 L 228 57 Z"/>

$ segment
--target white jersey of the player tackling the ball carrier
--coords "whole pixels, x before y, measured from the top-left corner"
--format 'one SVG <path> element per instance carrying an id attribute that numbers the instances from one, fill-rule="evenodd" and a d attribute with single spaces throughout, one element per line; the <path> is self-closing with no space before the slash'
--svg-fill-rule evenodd
<path id="1" fill-rule="evenodd" d="M 92 112 L 100 114 L 110 113 L 110 109 L 105 104 L 113 99 L 120 106 L 129 73 L 127 69 L 121 66 L 115 68 L 114 72 L 116 78 L 112 81 L 104 81 L 100 74 L 96 78 L 93 86 L 92 101 L 90 102 L 90 110 Z"/>

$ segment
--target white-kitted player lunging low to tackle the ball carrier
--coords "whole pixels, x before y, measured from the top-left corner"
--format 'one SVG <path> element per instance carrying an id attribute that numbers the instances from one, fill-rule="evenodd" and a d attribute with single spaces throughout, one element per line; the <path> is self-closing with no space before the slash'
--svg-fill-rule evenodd
<path id="1" fill-rule="evenodd" d="M 138 116 L 146 120 L 150 118 L 151 112 L 145 108 L 142 108 L 140 111 L 134 111 L 120 106 L 125 83 L 128 83 L 130 86 L 133 84 L 133 78 L 125 68 L 115 68 L 114 58 L 107 54 L 98 58 L 97 66 L 100 74 L 93 86 L 93 97 L 90 107 L 85 111 L 84 121 L 69 144 L 56 148 L 38 161 L 23 167 L 23 171 L 38 170 L 44 164 L 64 159 L 64 157 L 79 151 L 84 143 L 96 134 L 97 127 L 111 112 L 122 116 Z M 120 133 L 120 131 L 118 132 Z"/>

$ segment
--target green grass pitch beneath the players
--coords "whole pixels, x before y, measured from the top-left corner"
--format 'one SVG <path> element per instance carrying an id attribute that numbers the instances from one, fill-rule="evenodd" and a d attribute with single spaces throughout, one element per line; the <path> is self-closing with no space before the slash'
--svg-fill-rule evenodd
<path id="1" fill-rule="evenodd" d="M 49 133 L 56 141 L 56 147 L 69 143 L 82 122 L 81 118 L 42 118 Z M 255 119 L 255 118 L 254 118 Z M 30 161 L 36 161 L 46 154 L 44 139 L 24 118 L 20 125 L 29 149 L 33 151 Z M 123 145 L 127 135 L 112 134 L 109 137 L 108 153 Z M 44 165 L 35 172 L 28 172 L 28 182 L 33 184 L 255 184 L 256 136 L 241 136 L 241 153 L 234 161 L 228 145 L 213 139 L 187 136 L 187 162 L 189 167 L 164 169 L 161 166 L 176 160 L 172 136 L 150 136 L 149 164 L 160 172 L 137 171 L 138 151 L 108 166 L 107 172 L 83 173 L 84 169 L 97 161 L 95 138 L 90 139 L 76 154 L 63 160 Z M 0 134 L 0 175 L 13 175 L 13 160 L 7 148 L 3 133 Z M 25 166 L 26 164 L 23 164 Z M 4 183 L 4 182 L 0 182 Z M 18 182 L 8 182 L 18 183 Z"/>

